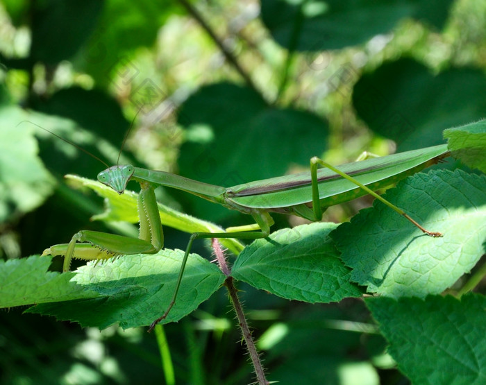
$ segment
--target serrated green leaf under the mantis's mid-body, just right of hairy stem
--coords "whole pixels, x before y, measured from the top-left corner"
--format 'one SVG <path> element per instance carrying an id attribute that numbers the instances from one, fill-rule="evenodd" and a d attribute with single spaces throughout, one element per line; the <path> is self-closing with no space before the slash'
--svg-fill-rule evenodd
<path id="1" fill-rule="evenodd" d="M 305 302 L 337 302 L 360 296 L 349 282 L 328 237 L 335 223 L 312 223 L 270 234 L 246 246 L 232 275 L 276 296 Z"/>

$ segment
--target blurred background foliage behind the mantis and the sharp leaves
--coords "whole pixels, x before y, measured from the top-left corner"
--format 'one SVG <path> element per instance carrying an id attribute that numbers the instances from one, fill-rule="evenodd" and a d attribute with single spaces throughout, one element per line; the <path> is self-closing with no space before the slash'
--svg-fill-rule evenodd
<path id="1" fill-rule="evenodd" d="M 137 234 L 90 222 L 103 203 L 62 176 L 104 166 L 38 126 L 115 164 L 133 122 L 120 162 L 229 187 L 305 169 L 313 155 L 340 164 L 441 143 L 444 128 L 485 116 L 485 35 L 484 0 L 2 0 L 0 255 L 38 254 L 81 228 Z M 249 221 L 159 190 L 220 225 Z M 165 233 L 185 248 L 187 234 Z M 360 300 L 303 305 L 240 289 L 269 379 L 408 382 Z M 145 330 L 81 330 L 22 310 L 0 314 L 3 384 L 167 381 Z M 177 383 L 251 382 L 224 291 L 165 330 Z"/>

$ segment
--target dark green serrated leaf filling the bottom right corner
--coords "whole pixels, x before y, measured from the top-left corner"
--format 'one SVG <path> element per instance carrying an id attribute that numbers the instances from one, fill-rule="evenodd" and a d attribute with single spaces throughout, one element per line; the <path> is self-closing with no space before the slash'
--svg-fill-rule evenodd
<path id="1" fill-rule="evenodd" d="M 368 298 L 388 352 L 413 384 L 486 383 L 486 298 Z"/>

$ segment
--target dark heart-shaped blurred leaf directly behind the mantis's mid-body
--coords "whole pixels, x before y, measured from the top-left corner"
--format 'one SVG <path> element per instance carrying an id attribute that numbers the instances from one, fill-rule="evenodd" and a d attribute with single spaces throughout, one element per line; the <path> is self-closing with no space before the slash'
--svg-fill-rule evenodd
<path id="1" fill-rule="evenodd" d="M 186 128 L 182 176 L 224 187 L 281 176 L 308 166 L 326 149 L 328 124 L 310 112 L 268 105 L 247 87 L 219 83 L 187 99 L 178 120 Z M 219 220 L 228 209 L 192 201 L 196 214 Z"/>

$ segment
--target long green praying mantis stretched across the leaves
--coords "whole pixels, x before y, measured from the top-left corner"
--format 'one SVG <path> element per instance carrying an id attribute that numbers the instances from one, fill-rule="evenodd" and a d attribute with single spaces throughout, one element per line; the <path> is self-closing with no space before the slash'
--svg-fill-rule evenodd
<path id="1" fill-rule="evenodd" d="M 56 134 L 53 135 L 58 137 Z M 72 144 L 64 138 L 60 139 Z M 76 146 L 75 144 L 72 145 Z M 111 167 L 106 164 L 107 169 L 101 171 L 97 178 L 99 182 L 114 189 L 118 194 L 124 194 L 126 185 L 130 180 L 135 180 L 140 184 L 138 196 L 139 238 L 82 230 L 74 234 L 69 243 L 51 246 L 51 248 L 44 250 L 42 255 L 63 256 L 65 258 L 63 271 L 69 271 L 73 258 L 100 260 L 119 255 L 157 253 L 164 246 L 162 223 L 154 192 L 159 186 L 187 191 L 228 209 L 236 209 L 244 214 L 251 215 L 255 220 L 253 225 L 228 228 L 226 232 L 196 232 L 190 236 L 171 302 L 164 314 L 153 321 L 149 327 L 149 331 L 151 331 L 153 327 L 167 317 L 176 303 L 185 264 L 194 240 L 201 238 L 265 238 L 270 234 L 271 225 L 274 223 L 270 212 L 293 214 L 310 221 L 320 221 L 327 207 L 371 194 L 398 214 L 405 216 L 424 234 L 431 237 L 441 237 L 440 232 L 426 230 L 408 216 L 403 209 L 389 203 L 374 191 L 388 187 L 406 176 L 439 162 L 446 156 L 449 156 L 449 151 L 444 144 L 342 164 L 339 168 L 318 157 L 312 157 L 310 171 L 258 180 L 228 188 L 208 185 L 165 171 L 142 169 L 131 164 Z M 97 159 L 99 160 L 99 158 Z M 319 166 L 324 168 L 319 168 Z"/>

